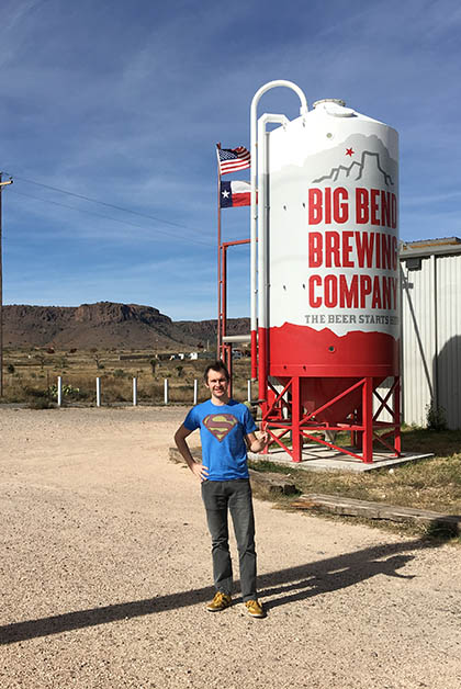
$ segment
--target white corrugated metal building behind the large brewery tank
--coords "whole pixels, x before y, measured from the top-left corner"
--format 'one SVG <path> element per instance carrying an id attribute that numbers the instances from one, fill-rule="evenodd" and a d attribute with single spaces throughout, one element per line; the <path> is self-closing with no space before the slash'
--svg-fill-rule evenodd
<path id="1" fill-rule="evenodd" d="M 403 244 L 401 269 L 403 420 L 461 428 L 461 239 Z"/>

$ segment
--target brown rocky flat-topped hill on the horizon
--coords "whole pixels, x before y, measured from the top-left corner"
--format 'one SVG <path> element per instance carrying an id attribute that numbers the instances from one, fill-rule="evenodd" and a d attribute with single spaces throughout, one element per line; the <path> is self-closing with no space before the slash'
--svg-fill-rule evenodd
<path id="1" fill-rule="evenodd" d="M 248 318 L 228 320 L 229 335 L 248 331 Z M 138 304 L 3 306 L 5 348 L 194 349 L 215 338 L 216 320 L 173 321 L 158 308 Z"/>

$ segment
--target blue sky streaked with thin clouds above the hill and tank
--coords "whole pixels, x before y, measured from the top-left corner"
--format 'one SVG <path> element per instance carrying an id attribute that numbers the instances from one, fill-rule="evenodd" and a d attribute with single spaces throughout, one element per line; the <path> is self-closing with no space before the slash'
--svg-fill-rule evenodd
<path id="1" fill-rule="evenodd" d="M 272 79 L 395 127 L 401 237 L 461 235 L 458 0 L 3 0 L 1 18 L 5 304 L 214 318 L 214 146 L 249 146 Z M 299 100 L 276 89 L 259 112 L 293 118 Z M 223 224 L 247 237 L 248 208 Z M 233 249 L 231 316 L 248 315 L 248 270 Z"/>

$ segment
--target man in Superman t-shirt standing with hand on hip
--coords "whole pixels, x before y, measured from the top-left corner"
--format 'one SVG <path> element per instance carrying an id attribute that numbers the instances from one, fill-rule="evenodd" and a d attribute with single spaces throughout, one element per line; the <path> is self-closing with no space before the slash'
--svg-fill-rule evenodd
<path id="1" fill-rule="evenodd" d="M 217 612 L 232 603 L 229 511 L 238 547 L 241 597 L 251 617 L 263 618 L 256 592 L 255 517 L 246 445 L 251 452 L 261 452 L 269 442 L 269 436 L 262 433 L 257 439 L 257 427 L 248 408 L 231 399 L 229 374 L 222 361 L 206 366 L 204 379 L 211 398 L 189 411 L 175 434 L 175 442 L 191 472 L 202 482 L 216 589 L 206 609 Z M 185 441 L 198 428 L 202 440 L 202 464 L 194 461 Z"/>

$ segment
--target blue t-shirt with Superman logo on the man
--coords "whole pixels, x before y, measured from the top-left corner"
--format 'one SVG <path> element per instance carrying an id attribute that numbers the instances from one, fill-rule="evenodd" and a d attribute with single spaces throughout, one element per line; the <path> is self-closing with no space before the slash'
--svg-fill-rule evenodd
<path id="1" fill-rule="evenodd" d="M 209 399 L 189 411 L 184 426 L 190 431 L 200 428 L 207 481 L 248 478 L 245 436 L 258 429 L 245 405 L 234 399 L 214 405 Z"/>

